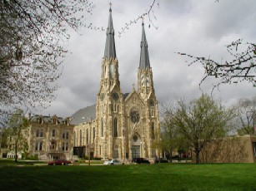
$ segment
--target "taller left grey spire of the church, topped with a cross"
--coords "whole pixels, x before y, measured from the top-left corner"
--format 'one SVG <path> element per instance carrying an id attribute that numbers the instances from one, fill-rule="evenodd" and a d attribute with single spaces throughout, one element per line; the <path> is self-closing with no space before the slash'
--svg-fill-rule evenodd
<path id="1" fill-rule="evenodd" d="M 114 39 L 114 30 L 113 30 L 113 19 L 112 19 L 112 9 L 111 9 L 111 2 L 109 8 L 109 17 L 108 17 L 108 28 L 107 28 L 107 41 L 105 46 L 104 56 L 110 59 L 116 58 L 116 46 L 115 46 L 115 39 Z"/>

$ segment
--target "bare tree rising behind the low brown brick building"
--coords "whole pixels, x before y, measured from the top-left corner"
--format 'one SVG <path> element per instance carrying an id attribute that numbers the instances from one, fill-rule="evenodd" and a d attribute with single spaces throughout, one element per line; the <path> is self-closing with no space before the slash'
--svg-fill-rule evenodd
<path id="1" fill-rule="evenodd" d="M 238 135 L 253 135 L 256 127 L 256 97 L 238 101 Z"/>

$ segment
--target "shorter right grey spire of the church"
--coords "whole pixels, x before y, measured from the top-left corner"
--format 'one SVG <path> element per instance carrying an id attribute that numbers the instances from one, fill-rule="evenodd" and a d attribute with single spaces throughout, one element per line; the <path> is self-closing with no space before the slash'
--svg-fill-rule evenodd
<path id="1" fill-rule="evenodd" d="M 149 56 L 148 56 L 148 42 L 146 39 L 146 33 L 144 29 L 144 22 L 142 24 L 143 26 L 143 34 L 142 34 L 142 40 L 140 42 L 140 61 L 139 61 L 139 68 L 149 68 L 150 62 L 149 62 Z"/>

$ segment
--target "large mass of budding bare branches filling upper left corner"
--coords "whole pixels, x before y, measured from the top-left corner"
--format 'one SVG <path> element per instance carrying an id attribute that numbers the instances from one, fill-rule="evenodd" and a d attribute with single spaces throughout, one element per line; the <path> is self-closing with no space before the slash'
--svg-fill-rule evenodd
<path id="1" fill-rule="evenodd" d="M 0 1 L 1 116 L 14 106 L 47 107 L 54 100 L 68 28 L 84 26 L 84 12 L 92 9 L 88 0 Z"/>

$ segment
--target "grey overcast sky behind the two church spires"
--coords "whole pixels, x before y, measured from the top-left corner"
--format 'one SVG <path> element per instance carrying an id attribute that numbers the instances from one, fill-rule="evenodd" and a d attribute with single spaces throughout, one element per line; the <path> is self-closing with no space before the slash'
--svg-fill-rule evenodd
<path id="1" fill-rule="evenodd" d="M 88 23 L 97 27 L 108 26 L 108 1 L 97 0 L 93 14 L 85 13 Z M 119 75 L 123 93 L 131 92 L 137 84 L 139 65 L 141 21 L 133 24 L 118 37 L 125 23 L 137 18 L 149 8 L 153 0 L 113 0 L 113 27 L 119 63 Z M 148 28 L 144 19 L 150 65 L 153 69 L 155 93 L 159 102 L 183 97 L 186 100 L 202 94 L 199 82 L 203 78 L 202 66 L 188 66 L 181 51 L 194 56 L 210 56 L 215 61 L 229 58 L 225 45 L 243 38 L 244 42 L 256 39 L 256 1 L 244 0 L 160 0 L 153 8 L 157 20 Z M 152 25 L 151 25 L 152 26 Z M 101 62 L 106 42 L 106 32 L 81 29 L 72 32 L 68 42 L 68 54 L 63 63 L 63 76 L 57 99 L 47 110 L 38 110 L 43 115 L 69 116 L 77 110 L 96 103 L 101 76 Z M 188 62 L 186 62 L 188 61 Z M 210 94 L 213 84 L 210 79 L 203 83 L 203 93 Z M 255 96 L 256 89 L 246 82 L 238 85 L 220 86 L 213 91 L 215 99 L 233 105 L 239 98 Z"/>

